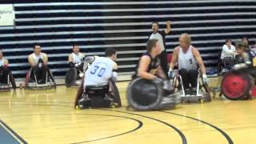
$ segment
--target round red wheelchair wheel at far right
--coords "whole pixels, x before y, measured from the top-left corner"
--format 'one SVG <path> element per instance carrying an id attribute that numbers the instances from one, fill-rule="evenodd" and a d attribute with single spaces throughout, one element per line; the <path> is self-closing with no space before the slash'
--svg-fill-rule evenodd
<path id="1" fill-rule="evenodd" d="M 244 99 L 249 95 L 252 82 L 244 71 L 230 71 L 222 78 L 222 94 L 230 100 Z"/>

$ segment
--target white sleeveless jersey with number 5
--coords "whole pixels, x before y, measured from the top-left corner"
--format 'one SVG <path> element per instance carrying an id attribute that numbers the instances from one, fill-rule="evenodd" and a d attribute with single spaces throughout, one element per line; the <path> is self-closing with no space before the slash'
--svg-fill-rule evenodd
<path id="1" fill-rule="evenodd" d="M 190 46 L 189 50 L 187 50 L 185 54 L 182 51 L 182 47 L 179 47 L 178 70 L 197 70 L 197 68 L 198 65 L 192 53 L 192 46 Z"/>

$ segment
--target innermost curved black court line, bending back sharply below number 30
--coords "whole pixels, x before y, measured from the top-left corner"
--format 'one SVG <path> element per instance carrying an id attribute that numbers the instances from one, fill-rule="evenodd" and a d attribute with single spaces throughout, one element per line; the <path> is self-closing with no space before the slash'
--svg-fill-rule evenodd
<path id="1" fill-rule="evenodd" d="M 70 114 L 20 114 L 20 115 L 8 115 L 8 116 L 5 116 L 5 117 L 25 117 L 25 116 L 34 116 L 34 115 L 70 115 Z M 118 136 L 121 136 L 121 135 L 124 135 L 124 134 L 132 133 L 132 132 L 142 128 L 142 126 L 143 126 L 143 122 L 139 121 L 138 119 L 123 117 L 123 116 L 118 116 L 118 115 L 109 115 L 109 114 L 75 114 L 75 115 L 97 115 L 97 116 L 106 116 L 106 117 L 126 118 L 126 119 L 131 119 L 135 122 L 138 122 L 138 126 L 135 127 L 133 130 L 129 130 L 129 131 L 126 131 L 126 132 L 121 133 L 121 134 L 115 134 L 115 135 L 112 135 L 112 136 L 109 136 L 109 137 L 92 139 L 92 140 L 87 140 L 87 141 L 83 141 L 83 142 L 72 142 L 72 144 L 95 142 L 95 141 L 100 141 L 100 140 L 103 140 L 103 139 L 118 137 Z"/>

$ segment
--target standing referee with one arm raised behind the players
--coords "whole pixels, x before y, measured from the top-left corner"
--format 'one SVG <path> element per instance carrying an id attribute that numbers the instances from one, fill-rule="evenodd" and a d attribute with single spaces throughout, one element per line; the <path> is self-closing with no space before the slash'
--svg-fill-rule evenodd
<path id="1" fill-rule="evenodd" d="M 159 30 L 159 24 L 158 22 L 153 22 L 152 24 L 152 30 L 153 33 L 150 34 L 148 41 L 150 39 L 158 39 L 158 42 L 161 46 L 161 53 L 158 55 L 158 58 L 160 58 L 161 61 L 161 67 L 164 73 L 166 74 L 166 77 L 168 78 L 168 62 L 167 62 L 167 53 L 166 53 L 166 34 L 170 34 L 170 25 L 171 22 L 166 22 L 166 30 Z"/>

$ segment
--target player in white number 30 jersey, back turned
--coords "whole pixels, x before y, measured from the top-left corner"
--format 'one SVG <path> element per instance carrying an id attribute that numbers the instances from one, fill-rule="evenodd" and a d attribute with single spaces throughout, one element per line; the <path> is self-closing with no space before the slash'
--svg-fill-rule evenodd
<path id="1" fill-rule="evenodd" d="M 106 57 L 96 57 L 94 62 L 86 70 L 84 78 L 84 88 L 86 86 L 102 86 L 107 85 L 110 78 L 114 81 L 117 78 L 117 73 L 114 70 L 118 69 L 118 65 L 114 62 L 117 58 L 116 50 L 108 48 L 105 51 Z M 88 58 L 86 58 L 86 61 Z M 89 60 L 90 62 L 91 60 Z"/>

